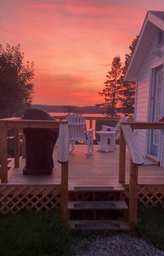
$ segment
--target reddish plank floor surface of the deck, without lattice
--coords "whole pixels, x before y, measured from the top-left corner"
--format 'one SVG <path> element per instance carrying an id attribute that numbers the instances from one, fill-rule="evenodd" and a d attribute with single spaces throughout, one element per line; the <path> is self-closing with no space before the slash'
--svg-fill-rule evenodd
<path id="1" fill-rule="evenodd" d="M 118 182 L 119 150 L 114 152 L 97 152 L 98 145 L 94 145 L 94 152 L 86 156 L 86 145 L 76 145 L 74 152 L 69 154 L 68 191 L 83 186 L 114 186 L 120 188 Z M 129 152 L 126 150 L 126 179 L 129 184 Z M 54 170 L 51 175 L 30 176 L 23 175 L 25 159 L 20 160 L 20 168 L 12 167 L 9 174 L 8 185 L 58 185 L 61 184 L 61 164 L 57 162 L 58 149 L 55 148 Z M 1 184 L 4 185 L 4 184 Z M 139 166 L 138 185 L 164 185 L 164 168 L 159 166 Z"/>

